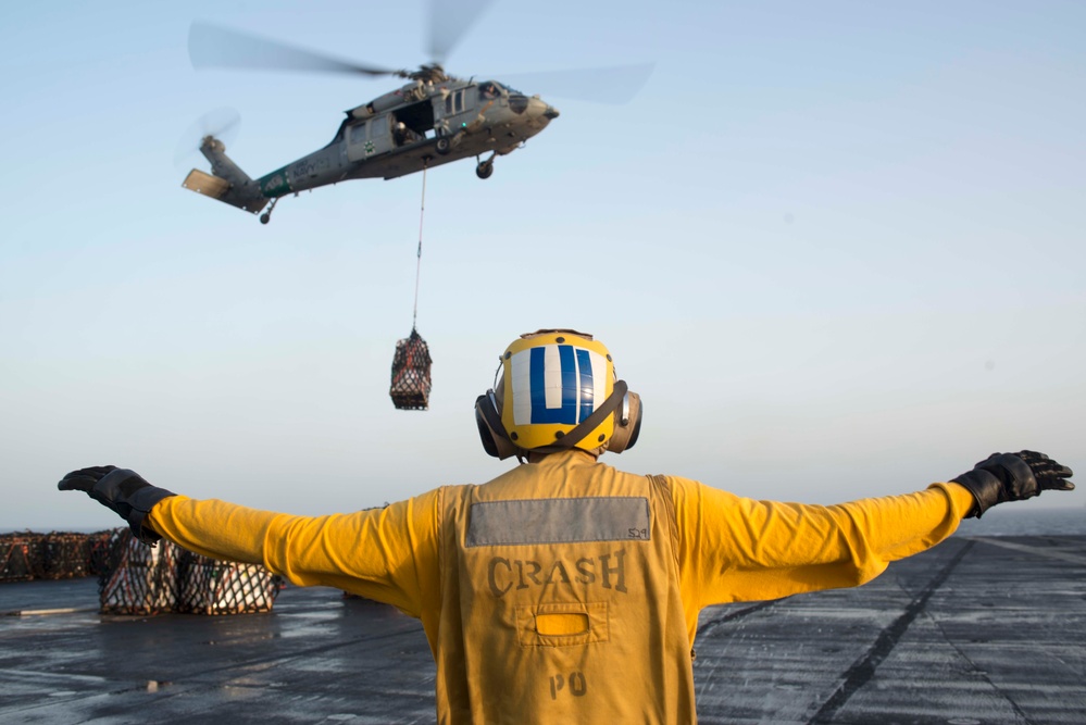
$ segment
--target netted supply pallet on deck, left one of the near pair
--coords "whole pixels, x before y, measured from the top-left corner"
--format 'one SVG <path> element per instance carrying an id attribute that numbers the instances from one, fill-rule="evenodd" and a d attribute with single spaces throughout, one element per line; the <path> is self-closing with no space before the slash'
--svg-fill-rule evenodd
<path id="1" fill-rule="evenodd" d="M 105 570 L 98 577 L 102 614 L 159 614 L 177 605 L 177 555 L 170 541 L 141 543 L 128 528 L 110 537 Z"/>

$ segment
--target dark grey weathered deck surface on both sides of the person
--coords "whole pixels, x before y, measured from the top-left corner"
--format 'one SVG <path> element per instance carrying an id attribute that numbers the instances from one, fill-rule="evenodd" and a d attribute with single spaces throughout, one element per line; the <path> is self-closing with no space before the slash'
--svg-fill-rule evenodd
<path id="1" fill-rule="evenodd" d="M 962 537 L 858 588 L 702 613 L 709 723 L 1086 723 L 1086 537 Z M 0 585 L 2 723 L 433 723 L 420 624 L 332 589 L 270 614 L 97 613 Z M 615 725 L 615 724 L 609 724 Z"/>

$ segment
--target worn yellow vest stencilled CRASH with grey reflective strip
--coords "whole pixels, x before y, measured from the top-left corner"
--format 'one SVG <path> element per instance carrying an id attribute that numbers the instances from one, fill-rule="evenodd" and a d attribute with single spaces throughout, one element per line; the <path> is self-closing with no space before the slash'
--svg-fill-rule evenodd
<path id="1" fill-rule="evenodd" d="M 696 720 L 665 479 L 552 455 L 442 490 L 441 723 Z"/>

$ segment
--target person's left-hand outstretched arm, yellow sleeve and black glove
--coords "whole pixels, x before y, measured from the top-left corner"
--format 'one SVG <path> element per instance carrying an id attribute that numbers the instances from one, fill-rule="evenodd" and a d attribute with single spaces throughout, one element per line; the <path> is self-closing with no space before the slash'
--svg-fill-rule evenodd
<path id="1" fill-rule="evenodd" d="M 263 564 L 300 586 L 360 593 L 420 616 L 427 583 L 437 576 L 437 501 L 432 491 L 384 509 L 292 516 L 225 501 L 197 501 L 151 486 L 114 466 L 65 476 L 63 490 L 83 490 L 125 517 L 145 542 L 158 538 L 215 559 Z"/>

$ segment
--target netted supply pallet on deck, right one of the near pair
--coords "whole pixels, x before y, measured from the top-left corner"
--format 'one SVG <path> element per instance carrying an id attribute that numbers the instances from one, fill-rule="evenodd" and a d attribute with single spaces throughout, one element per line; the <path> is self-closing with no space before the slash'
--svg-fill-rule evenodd
<path id="1" fill-rule="evenodd" d="M 184 552 L 178 566 L 177 611 L 192 614 L 270 612 L 279 578 L 263 566 Z"/>

